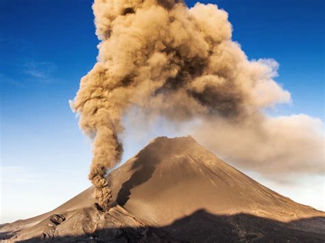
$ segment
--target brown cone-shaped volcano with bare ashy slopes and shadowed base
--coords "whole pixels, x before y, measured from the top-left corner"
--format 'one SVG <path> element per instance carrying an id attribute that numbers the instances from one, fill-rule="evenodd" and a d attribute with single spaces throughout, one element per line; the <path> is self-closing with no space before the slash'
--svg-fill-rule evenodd
<path id="1" fill-rule="evenodd" d="M 4 242 L 324 242 L 325 213 L 269 190 L 191 136 L 159 137 L 110 172 L 112 208 L 86 189 L 0 226 Z"/>

